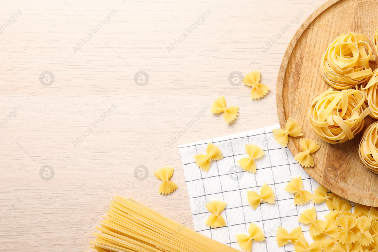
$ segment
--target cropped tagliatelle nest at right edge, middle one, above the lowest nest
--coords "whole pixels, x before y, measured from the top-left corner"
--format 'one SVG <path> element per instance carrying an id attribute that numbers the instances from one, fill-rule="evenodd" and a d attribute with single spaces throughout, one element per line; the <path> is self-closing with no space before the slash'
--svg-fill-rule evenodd
<path id="1" fill-rule="evenodd" d="M 374 70 L 367 84 L 361 85 L 361 90 L 366 92 L 365 102 L 370 109 L 369 116 L 378 119 L 378 68 Z"/>

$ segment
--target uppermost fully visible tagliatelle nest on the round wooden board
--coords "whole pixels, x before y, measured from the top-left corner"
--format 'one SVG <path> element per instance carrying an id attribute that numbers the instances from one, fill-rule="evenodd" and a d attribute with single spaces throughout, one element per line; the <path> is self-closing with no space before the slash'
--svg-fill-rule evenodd
<path id="1" fill-rule="evenodd" d="M 337 89 L 348 89 L 366 82 L 373 71 L 369 60 L 375 60 L 369 39 L 363 34 L 341 34 L 328 46 L 322 57 L 325 82 Z"/>

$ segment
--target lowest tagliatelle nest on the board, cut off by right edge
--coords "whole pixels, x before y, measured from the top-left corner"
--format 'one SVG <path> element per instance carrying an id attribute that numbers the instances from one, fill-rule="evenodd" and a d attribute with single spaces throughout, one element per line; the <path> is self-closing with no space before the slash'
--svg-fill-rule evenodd
<path id="1" fill-rule="evenodd" d="M 371 124 L 364 131 L 358 155 L 367 169 L 378 174 L 378 122 Z"/>

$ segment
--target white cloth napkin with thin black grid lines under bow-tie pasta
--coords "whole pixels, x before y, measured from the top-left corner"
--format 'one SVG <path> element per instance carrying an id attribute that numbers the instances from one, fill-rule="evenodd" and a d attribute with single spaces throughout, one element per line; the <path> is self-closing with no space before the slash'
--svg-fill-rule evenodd
<path id="1" fill-rule="evenodd" d="M 308 232 L 309 225 L 297 221 L 300 213 L 308 208 L 315 207 L 318 218 L 323 218 L 329 211 L 325 203 L 307 203 L 303 206 L 294 206 L 294 195 L 284 190 L 291 178 L 301 176 L 303 189 L 313 192 L 319 185 L 294 160 L 288 148 L 283 148 L 274 141 L 273 125 L 257 130 L 246 131 L 220 138 L 180 145 L 179 152 L 184 169 L 189 200 L 191 204 L 194 229 L 214 240 L 242 250 L 236 242 L 235 235 L 248 234 L 251 222 L 257 224 L 265 233 L 265 241 L 253 242 L 252 251 L 292 252 L 291 243 L 283 247 L 276 244 L 277 226 L 282 226 L 289 232 L 301 226 L 305 238 L 313 242 Z M 209 142 L 217 145 L 223 154 L 223 159 L 212 161 L 208 172 L 199 169 L 194 162 L 196 154 L 206 154 Z M 264 155 L 256 160 L 256 173 L 242 170 L 237 161 L 247 157 L 245 144 L 256 144 L 263 148 Z M 256 210 L 249 206 L 246 199 L 247 191 L 257 193 L 264 183 L 273 189 L 276 203 L 262 203 Z M 209 229 L 204 223 L 210 213 L 205 204 L 212 200 L 222 200 L 227 203 L 221 213 L 225 218 L 226 226 Z M 353 204 L 354 205 L 354 204 Z"/>

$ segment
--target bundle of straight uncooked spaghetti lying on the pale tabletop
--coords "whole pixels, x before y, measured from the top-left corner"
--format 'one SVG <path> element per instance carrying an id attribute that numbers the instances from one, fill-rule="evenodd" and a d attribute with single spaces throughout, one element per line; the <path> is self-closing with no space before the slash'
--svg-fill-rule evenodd
<path id="1" fill-rule="evenodd" d="M 134 199 L 114 197 L 90 241 L 98 252 L 239 252 L 170 220 Z"/>

